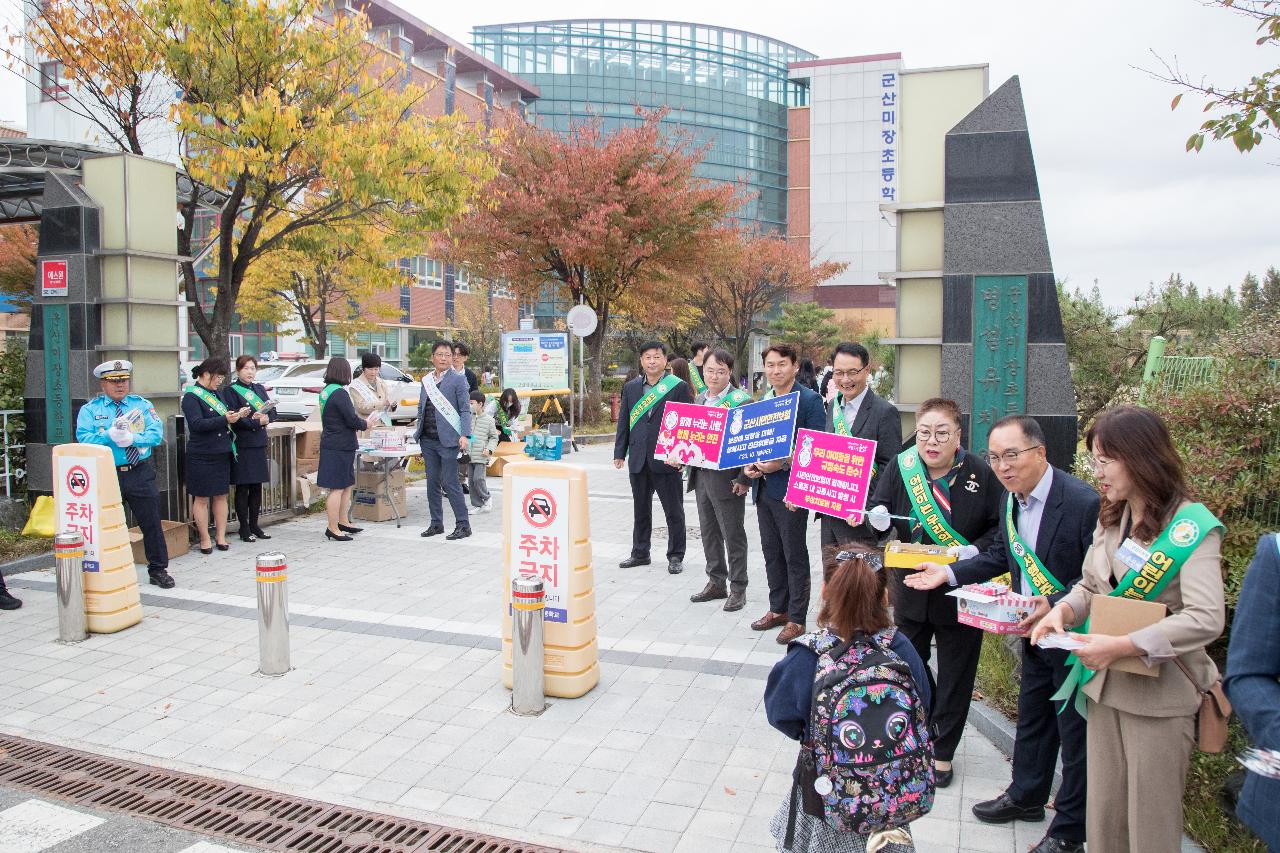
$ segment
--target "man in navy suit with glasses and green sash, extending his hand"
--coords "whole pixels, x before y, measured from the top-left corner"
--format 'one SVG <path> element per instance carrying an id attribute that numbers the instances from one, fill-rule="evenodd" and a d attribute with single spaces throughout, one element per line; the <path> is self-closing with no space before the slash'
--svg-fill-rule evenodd
<path id="1" fill-rule="evenodd" d="M 906 578 L 906 584 L 915 589 L 959 587 L 1007 571 L 1014 592 L 1037 597 L 1036 612 L 1021 624 L 1024 631 L 1030 631 L 1080 579 L 1098 521 L 1098 493 L 1048 464 L 1044 433 L 1027 415 L 997 420 L 987 448 L 992 470 L 1009 489 L 995 542 L 977 557 L 951 566 L 924 564 Z M 1033 853 L 1084 852 L 1085 724 L 1070 704 L 1059 713 L 1050 698 L 1066 674 L 1065 651 L 1039 648 L 1023 639 L 1012 781 L 996 799 L 973 807 L 973 813 L 989 824 L 1044 820 L 1061 745 L 1062 786 L 1053 822 Z"/>

